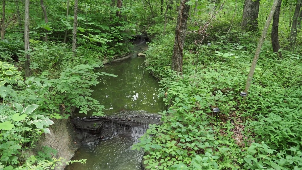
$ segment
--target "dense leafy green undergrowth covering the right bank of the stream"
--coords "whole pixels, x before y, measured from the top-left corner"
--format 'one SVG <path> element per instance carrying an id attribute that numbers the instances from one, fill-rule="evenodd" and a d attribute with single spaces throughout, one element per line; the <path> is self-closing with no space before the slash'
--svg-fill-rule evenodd
<path id="1" fill-rule="evenodd" d="M 174 35 L 149 43 L 147 69 L 161 79 L 161 97 L 171 107 L 133 147 L 146 152 L 146 169 L 301 169 L 300 56 L 282 51 L 286 57 L 278 59 L 266 43 L 243 100 L 255 37 L 228 37 L 203 45 L 198 62 L 197 46 L 187 42 L 181 76 L 171 70 Z"/>

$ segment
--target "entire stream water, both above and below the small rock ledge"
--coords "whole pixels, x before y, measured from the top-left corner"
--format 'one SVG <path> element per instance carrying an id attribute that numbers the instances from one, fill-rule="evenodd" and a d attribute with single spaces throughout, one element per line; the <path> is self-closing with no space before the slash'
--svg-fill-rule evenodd
<path id="1" fill-rule="evenodd" d="M 142 51 L 146 44 L 136 45 L 133 51 Z M 105 106 L 105 115 L 114 115 L 121 110 L 144 110 L 157 113 L 165 110 L 158 98 L 159 84 L 145 70 L 145 58 L 136 57 L 105 65 L 99 72 L 118 77 L 102 76 L 101 83 L 93 87 L 93 98 Z M 90 114 L 90 115 L 89 115 Z M 91 116 L 92 113 L 88 113 Z M 77 115 L 83 116 L 83 115 Z M 114 135 L 97 142 L 83 144 L 73 160 L 87 159 L 86 164 L 74 163 L 68 170 L 140 170 L 142 151 L 131 150 L 147 127 L 114 125 Z"/>

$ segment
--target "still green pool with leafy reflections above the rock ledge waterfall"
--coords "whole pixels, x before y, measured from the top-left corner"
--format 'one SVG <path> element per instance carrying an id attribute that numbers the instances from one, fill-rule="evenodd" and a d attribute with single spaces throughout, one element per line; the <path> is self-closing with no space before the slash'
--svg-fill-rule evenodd
<path id="1" fill-rule="evenodd" d="M 92 87 L 92 97 L 105 106 L 105 114 L 121 110 L 146 110 L 151 113 L 164 110 L 164 104 L 158 98 L 158 82 L 144 70 L 144 60 L 145 58 L 135 57 L 106 65 L 99 70 L 118 76 L 102 76 L 101 83 Z M 90 115 L 92 113 L 88 113 Z"/>

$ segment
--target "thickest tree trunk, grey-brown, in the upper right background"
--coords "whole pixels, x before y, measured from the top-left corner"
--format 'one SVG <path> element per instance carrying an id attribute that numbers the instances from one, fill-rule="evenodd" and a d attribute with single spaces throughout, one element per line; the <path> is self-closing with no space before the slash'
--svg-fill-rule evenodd
<path id="1" fill-rule="evenodd" d="M 245 0 L 241 27 L 249 31 L 255 31 L 258 27 L 260 0 Z"/>

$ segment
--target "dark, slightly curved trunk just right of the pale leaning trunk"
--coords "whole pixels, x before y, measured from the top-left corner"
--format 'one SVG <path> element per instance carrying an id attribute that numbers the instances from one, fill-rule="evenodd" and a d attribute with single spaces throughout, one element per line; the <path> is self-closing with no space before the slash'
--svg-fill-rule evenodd
<path id="1" fill-rule="evenodd" d="M 273 26 L 271 27 L 271 45 L 273 46 L 274 53 L 278 54 L 282 58 L 280 50 L 279 38 L 278 38 L 278 27 L 279 27 L 279 16 L 282 0 L 279 0 L 274 17 Z"/>

